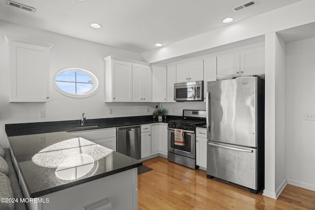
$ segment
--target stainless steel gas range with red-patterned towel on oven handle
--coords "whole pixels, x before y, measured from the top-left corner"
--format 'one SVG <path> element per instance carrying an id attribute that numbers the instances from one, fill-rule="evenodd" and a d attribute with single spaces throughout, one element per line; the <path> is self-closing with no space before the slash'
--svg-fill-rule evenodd
<path id="1" fill-rule="evenodd" d="M 206 111 L 183 110 L 181 120 L 168 122 L 167 159 L 192 169 L 196 166 L 196 125 L 206 124 Z"/>

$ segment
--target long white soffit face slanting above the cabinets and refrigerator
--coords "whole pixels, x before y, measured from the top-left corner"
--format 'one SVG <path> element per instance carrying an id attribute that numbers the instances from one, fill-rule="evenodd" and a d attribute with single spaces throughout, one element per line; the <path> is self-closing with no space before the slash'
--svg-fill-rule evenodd
<path id="1" fill-rule="evenodd" d="M 302 0 L 243 21 L 141 54 L 153 63 L 195 53 L 273 31 L 315 22 L 315 0 Z M 187 47 L 189 46 L 189 47 Z"/>

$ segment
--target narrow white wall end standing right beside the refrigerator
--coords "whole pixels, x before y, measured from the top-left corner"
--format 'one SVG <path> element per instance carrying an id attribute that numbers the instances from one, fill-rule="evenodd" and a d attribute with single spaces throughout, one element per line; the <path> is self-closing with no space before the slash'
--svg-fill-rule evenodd
<path id="1" fill-rule="evenodd" d="M 265 188 L 278 198 L 285 187 L 285 43 L 276 34 L 265 36 Z"/>

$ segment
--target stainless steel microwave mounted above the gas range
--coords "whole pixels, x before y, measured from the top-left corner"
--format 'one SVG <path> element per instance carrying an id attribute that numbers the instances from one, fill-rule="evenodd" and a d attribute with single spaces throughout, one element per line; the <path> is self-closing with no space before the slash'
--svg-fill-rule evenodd
<path id="1" fill-rule="evenodd" d="M 175 101 L 203 101 L 203 81 L 175 83 Z"/>

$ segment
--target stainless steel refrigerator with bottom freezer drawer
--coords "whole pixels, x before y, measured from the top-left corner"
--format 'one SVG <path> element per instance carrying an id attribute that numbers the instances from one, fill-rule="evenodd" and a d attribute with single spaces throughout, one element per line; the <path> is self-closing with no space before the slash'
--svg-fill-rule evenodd
<path id="1" fill-rule="evenodd" d="M 264 185 L 264 80 L 207 86 L 207 177 L 258 193 Z"/>

